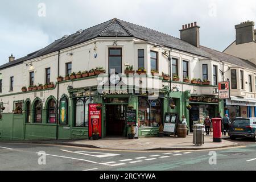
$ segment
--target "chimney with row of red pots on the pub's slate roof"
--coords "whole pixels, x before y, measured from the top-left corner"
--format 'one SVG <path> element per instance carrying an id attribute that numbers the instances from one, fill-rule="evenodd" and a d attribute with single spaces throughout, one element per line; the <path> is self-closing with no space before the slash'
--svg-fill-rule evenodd
<path id="1" fill-rule="evenodd" d="M 180 30 L 180 39 L 193 46 L 200 47 L 199 28 L 196 22 L 185 24 L 182 26 L 182 30 Z"/>

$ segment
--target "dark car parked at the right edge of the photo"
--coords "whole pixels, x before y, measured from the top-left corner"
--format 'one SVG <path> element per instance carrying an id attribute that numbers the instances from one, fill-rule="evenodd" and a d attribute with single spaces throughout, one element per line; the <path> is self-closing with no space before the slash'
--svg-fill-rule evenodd
<path id="1" fill-rule="evenodd" d="M 237 137 L 253 138 L 256 142 L 256 118 L 235 118 L 229 126 L 231 139 Z"/>

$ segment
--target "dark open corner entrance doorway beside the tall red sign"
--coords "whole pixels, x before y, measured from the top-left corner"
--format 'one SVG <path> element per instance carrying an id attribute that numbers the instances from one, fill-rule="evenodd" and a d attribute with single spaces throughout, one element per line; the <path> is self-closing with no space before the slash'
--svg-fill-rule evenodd
<path id="1" fill-rule="evenodd" d="M 106 136 L 123 136 L 125 105 L 106 105 Z"/>

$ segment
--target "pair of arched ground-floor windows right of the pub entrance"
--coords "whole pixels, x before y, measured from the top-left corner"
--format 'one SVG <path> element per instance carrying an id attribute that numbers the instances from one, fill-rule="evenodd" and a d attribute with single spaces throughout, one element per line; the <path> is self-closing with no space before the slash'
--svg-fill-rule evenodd
<path id="1" fill-rule="evenodd" d="M 159 100 L 139 100 L 139 127 L 158 127 L 162 123 L 162 106 Z"/>

